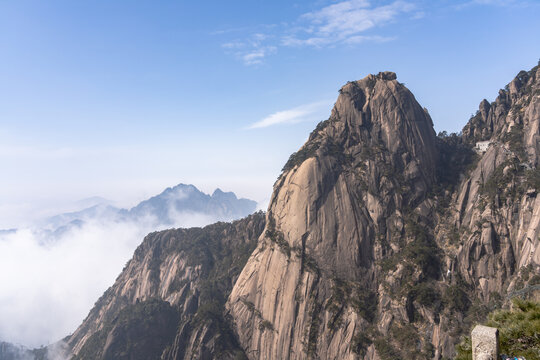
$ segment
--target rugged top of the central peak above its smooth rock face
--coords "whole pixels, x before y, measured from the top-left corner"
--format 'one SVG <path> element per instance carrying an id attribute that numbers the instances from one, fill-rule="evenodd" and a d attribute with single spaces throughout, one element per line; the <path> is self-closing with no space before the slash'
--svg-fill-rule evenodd
<path id="1" fill-rule="evenodd" d="M 291 157 L 296 161 L 288 162 L 284 170 L 298 163 L 298 158 L 322 155 L 314 150 L 323 154 L 343 152 L 357 161 L 384 150 L 384 161 L 395 168 L 404 169 L 414 160 L 419 173 L 430 183 L 437 153 L 433 122 L 409 89 L 396 79 L 395 73 L 385 71 L 345 84 L 330 118 L 317 126 L 308 142 Z"/>

